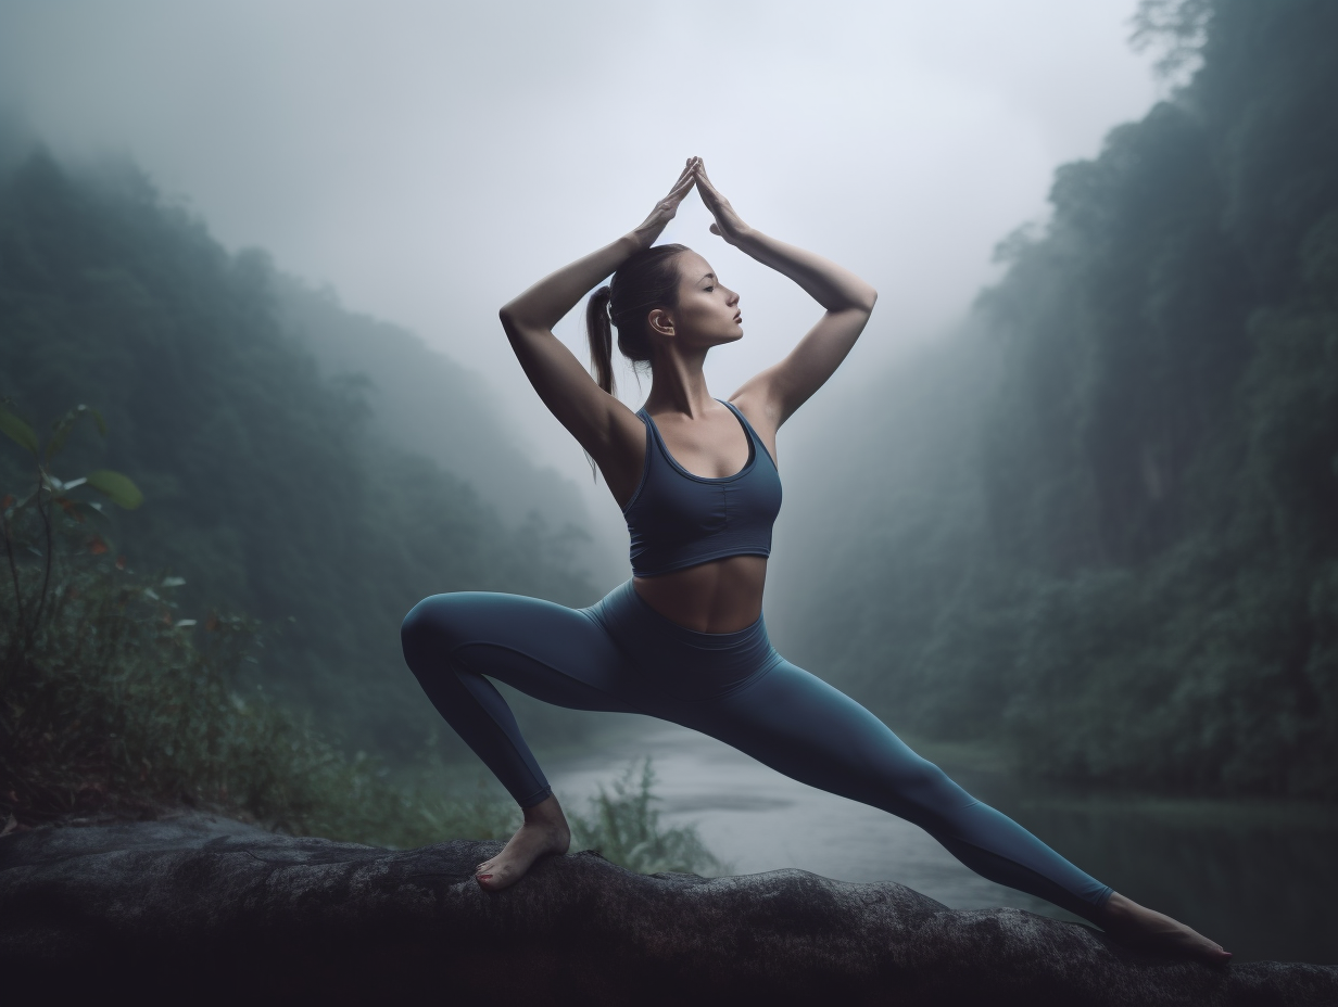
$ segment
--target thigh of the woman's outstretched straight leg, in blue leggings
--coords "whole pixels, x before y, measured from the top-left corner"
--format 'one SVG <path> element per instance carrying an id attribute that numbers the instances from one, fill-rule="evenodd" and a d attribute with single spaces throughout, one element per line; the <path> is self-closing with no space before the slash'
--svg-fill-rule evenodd
<path id="1" fill-rule="evenodd" d="M 788 661 L 688 719 L 793 780 L 926 828 L 975 802 L 860 703 Z"/>

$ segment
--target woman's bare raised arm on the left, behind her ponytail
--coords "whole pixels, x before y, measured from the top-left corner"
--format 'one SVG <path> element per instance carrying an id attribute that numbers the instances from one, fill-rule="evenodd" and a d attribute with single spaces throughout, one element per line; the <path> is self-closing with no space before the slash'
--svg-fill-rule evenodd
<path id="1" fill-rule="evenodd" d="M 633 253 L 654 243 L 696 183 L 694 164 L 696 158 L 689 158 L 669 195 L 656 203 L 638 227 L 545 277 L 499 312 L 511 349 L 534 390 L 595 460 L 619 501 L 634 488 L 622 485 L 628 473 L 632 472 L 632 481 L 640 475 L 645 427 L 594 382 L 575 354 L 553 334 L 553 326 Z"/>

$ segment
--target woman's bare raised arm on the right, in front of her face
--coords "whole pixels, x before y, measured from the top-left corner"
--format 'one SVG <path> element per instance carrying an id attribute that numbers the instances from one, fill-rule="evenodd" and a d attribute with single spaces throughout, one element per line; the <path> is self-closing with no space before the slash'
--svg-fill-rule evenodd
<path id="1" fill-rule="evenodd" d="M 775 431 L 840 366 L 864 330 L 878 292 L 848 269 L 745 225 L 729 201 L 710 185 L 700 163 L 697 191 L 716 218 L 712 234 L 789 277 L 827 309 L 784 360 L 747 381 L 732 396 L 740 408 L 763 417 Z"/>

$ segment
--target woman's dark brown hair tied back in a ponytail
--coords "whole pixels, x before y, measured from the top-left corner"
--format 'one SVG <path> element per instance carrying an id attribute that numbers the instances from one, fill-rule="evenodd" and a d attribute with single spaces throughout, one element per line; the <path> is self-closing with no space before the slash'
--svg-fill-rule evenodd
<path id="1" fill-rule="evenodd" d="M 613 329 L 618 328 L 618 349 L 633 364 L 650 362 L 650 337 L 646 316 L 654 308 L 678 304 L 678 270 L 674 257 L 688 251 L 686 245 L 656 245 L 642 249 L 618 266 L 609 286 L 590 294 L 586 305 L 586 336 L 590 340 L 590 364 L 594 380 L 614 395 Z"/>

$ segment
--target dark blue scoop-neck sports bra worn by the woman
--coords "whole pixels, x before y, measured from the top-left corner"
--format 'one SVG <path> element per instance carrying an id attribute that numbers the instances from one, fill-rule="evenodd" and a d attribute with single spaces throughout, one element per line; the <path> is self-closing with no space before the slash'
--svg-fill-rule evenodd
<path id="1" fill-rule="evenodd" d="M 717 400 L 719 401 L 719 400 Z M 780 512 L 780 473 L 757 431 L 732 404 L 748 435 L 748 461 L 732 476 L 694 476 L 669 453 L 650 415 L 641 483 L 622 508 L 632 536 L 632 572 L 656 576 L 725 556 L 771 555 Z M 759 457 L 767 459 L 759 464 Z"/>

